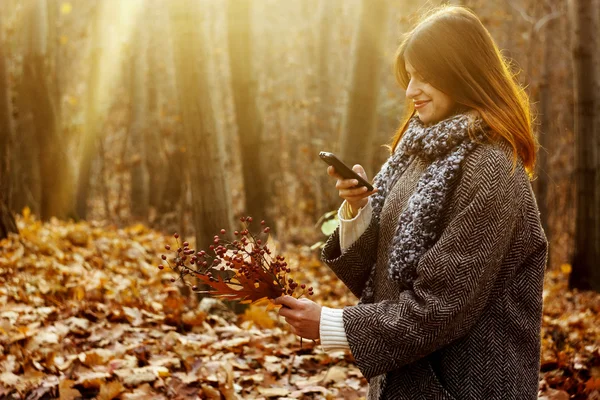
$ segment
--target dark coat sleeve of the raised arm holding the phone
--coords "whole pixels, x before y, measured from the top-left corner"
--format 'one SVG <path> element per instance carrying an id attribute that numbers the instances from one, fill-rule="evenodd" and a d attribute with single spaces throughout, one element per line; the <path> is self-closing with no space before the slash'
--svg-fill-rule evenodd
<path id="1" fill-rule="evenodd" d="M 375 218 L 371 218 L 364 233 L 342 253 L 340 227 L 338 226 L 321 252 L 321 260 L 358 298 L 360 298 L 371 268 L 377 260 L 378 233 L 379 223 Z"/>

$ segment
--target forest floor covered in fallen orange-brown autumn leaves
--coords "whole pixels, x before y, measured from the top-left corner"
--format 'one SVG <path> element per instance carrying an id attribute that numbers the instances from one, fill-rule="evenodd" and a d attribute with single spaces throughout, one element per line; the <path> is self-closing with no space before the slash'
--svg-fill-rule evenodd
<path id="1" fill-rule="evenodd" d="M 170 236 L 27 213 L 18 225 L 0 242 L 0 399 L 365 397 L 350 353 L 301 347 L 264 305 L 236 315 L 185 295 L 157 268 Z M 316 250 L 284 255 L 313 300 L 356 303 Z M 600 295 L 569 291 L 569 272 L 547 273 L 540 398 L 600 399 Z"/>

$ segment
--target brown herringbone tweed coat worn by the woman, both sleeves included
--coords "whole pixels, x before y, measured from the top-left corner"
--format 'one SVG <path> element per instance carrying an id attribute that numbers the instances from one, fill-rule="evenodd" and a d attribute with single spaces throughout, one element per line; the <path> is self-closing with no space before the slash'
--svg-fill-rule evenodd
<path id="1" fill-rule="evenodd" d="M 343 254 L 339 230 L 323 261 L 361 297 L 344 308 L 350 351 L 369 399 L 535 399 L 548 243 L 531 184 L 505 142 L 479 144 L 452 183 L 439 239 L 410 284 L 388 277 L 398 216 L 427 165 L 414 157 L 379 222 Z"/>

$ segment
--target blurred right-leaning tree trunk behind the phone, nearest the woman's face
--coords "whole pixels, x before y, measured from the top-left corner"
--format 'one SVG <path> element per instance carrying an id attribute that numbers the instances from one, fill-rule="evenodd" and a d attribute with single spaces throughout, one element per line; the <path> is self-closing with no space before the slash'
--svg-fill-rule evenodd
<path id="1" fill-rule="evenodd" d="M 371 140 L 377 128 L 380 60 L 388 26 L 384 0 L 362 0 L 361 4 L 351 86 L 340 139 L 340 158 L 350 167 L 354 164 L 371 166 Z M 369 172 L 367 174 L 372 177 Z"/>

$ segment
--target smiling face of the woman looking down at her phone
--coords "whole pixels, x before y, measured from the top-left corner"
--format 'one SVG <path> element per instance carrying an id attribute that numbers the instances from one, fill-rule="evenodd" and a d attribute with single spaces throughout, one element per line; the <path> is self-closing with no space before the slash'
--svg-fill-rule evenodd
<path id="1" fill-rule="evenodd" d="M 404 67 L 410 79 L 406 97 L 414 102 L 419 119 L 425 126 L 436 124 L 453 114 L 458 104 L 450 96 L 426 82 L 408 61 Z"/>

